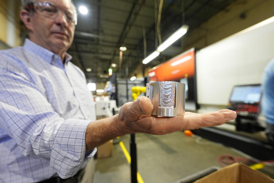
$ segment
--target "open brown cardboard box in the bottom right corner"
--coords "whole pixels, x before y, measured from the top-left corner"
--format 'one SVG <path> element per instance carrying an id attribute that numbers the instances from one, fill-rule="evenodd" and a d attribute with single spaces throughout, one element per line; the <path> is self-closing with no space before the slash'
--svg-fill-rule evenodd
<path id="1" fill-rule="evenodd" d="M 268 175 L 242 163 L 234 163 L 213 172 L 194 183 L 273 183 Z"/>

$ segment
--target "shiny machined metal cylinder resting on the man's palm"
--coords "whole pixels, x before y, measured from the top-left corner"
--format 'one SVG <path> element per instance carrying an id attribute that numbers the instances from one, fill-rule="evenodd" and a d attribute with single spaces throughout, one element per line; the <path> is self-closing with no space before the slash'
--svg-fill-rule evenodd
<path id="1" fill-rule="evenodd" d="M 153 104 L 152 115 L 180 116 L 185 114 L 186 84 L 175 81 L 146 83 L 146 97 Z"/>

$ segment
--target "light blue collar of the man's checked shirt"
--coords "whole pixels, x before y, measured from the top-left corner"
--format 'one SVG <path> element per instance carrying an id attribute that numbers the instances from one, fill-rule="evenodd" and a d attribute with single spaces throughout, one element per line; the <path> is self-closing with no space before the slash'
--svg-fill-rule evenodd
<path id="1" fill-rule="evenodd" d="M 59 57 L 61 60 L 61 57 L 58 54 L 55 54 L 55 53 L 49 51 L 48 49 L 45 49 L 44 47 L 37 45 L 36 43 L 32 42 L 29 39 L 25 40 L 23 47 L 25 49 L 37 54 L 38 56 L 43 58 L 48 63 L 52 63 L 56 56 Z M 66 52 L 65 53 L 65 64 L 67 64 L 71 59 L 72 59 L 72 56 Z"/>

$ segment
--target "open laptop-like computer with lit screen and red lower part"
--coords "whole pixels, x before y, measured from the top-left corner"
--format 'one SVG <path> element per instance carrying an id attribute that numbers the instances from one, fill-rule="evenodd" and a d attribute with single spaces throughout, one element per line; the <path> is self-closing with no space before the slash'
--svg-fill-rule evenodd
<path id="1" fill-rule="evenodd" d="M 259 114 L 261 96 L 260 84 L 234 86 L 228 108 L 236 111 L 239 118 L 256 119 Z"/>

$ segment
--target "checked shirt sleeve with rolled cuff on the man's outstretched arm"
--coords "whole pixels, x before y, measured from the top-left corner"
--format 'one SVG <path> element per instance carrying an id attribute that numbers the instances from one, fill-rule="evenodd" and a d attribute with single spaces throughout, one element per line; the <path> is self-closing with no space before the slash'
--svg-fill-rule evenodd
<path id="1" fill-rule="evenodd" d="M 61 118 L 39 86 L 18 70 L 0 68 L 0 125 L 24 156 L 50 160 L 61 178 L 79 170 L 89 120 Z"/>

